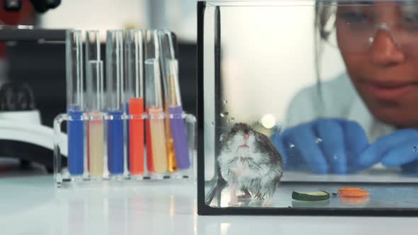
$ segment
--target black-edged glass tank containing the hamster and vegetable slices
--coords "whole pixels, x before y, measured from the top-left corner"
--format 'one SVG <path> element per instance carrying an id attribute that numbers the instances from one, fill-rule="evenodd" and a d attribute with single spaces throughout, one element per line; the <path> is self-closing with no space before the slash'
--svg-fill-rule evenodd
<path id="1" fill-rule="evenodd" d="M 417 1 L 199 1 L 199 214 L 418 214 Z"/>

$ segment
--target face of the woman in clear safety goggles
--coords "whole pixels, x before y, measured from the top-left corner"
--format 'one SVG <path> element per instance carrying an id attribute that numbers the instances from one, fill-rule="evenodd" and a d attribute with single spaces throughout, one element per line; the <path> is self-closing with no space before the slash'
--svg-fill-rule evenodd
<path id="1" fill-rule="evenodd" d="M 378 120 L 418 127 L 418 4 L 343 5 L 337 42 L 356 90 Z"/>

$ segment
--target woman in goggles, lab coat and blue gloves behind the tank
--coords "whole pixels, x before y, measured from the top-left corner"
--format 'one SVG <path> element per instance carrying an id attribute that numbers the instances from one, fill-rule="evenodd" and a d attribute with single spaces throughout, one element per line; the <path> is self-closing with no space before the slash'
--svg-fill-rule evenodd
<path id="1" fill-rule="evenodd" d="M 418 3 L 337 5 L 317 4 L 316 22 L 322 39 L 335 33 L 347 73 L 300 91 L 271 139 L 288 169 L 418 172 Z"/>

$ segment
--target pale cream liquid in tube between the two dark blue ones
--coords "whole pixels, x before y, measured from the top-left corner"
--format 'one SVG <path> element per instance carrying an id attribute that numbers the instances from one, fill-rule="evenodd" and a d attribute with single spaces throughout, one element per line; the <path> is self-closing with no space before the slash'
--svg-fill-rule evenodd
<path id="1" fill-rule="evenodd" d="M 89 120 L 89 168 L 91 177 L 103 176 L 103 120 L 101 113 L 92 113 Z"/>

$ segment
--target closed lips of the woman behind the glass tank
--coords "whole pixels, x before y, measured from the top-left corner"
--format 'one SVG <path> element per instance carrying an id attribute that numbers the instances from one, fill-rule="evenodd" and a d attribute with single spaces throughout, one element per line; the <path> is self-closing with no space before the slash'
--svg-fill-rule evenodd
<path id="1" fill-rule="evenodd" d="M 418 88 L 416 83 L 389 84 L 389 83 L 366 83 L 366 90 L 379 100 L 394 101 L 405 93 Z M 416 90 L 416 92 L 418 92 Z"/>

